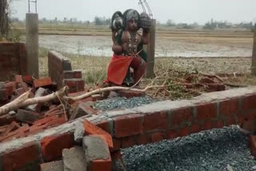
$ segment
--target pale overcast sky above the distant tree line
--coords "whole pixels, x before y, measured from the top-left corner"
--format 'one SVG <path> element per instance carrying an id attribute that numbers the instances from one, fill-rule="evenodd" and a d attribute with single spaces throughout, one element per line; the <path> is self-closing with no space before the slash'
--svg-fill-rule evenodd
<path id="1" fill-rule="evenodd" d="M 115 11 L 135 9 L 142 12 L 139 0 L 38 0 L 39 18 L 78 18 L 94 21 L 94 17 L 110 18 Z M 256 22 L 256 0 L 147 0 L 158 22 L 204 24 L 215 21 Z M 27 0 L 13 0 L 12 16 L 25 19 Z M 34 6 L 31 6 L 32 12 Z"/>

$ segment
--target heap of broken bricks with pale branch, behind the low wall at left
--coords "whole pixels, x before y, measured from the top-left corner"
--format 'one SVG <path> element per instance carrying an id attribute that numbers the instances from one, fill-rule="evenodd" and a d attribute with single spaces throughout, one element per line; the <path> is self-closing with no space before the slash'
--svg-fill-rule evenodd
<path id="1" fill-rule="evenodd" d="M 50 77 L 35 79 L 16 75 L 13 82 L 0 82 L 0 142 L 27 137 L 78 117 L 101 113 L 102 110 L 94 109 L 94 103 L 103 99 L 102 94 L 91 93 L 97 89 L 100 87 L 85 87 L 78 93 L 68 93 L 66 87 L 58 90 Z M 86 93 L 90 95 L 81 97 Z M 117 96 L 131 98 L 143 94 L 120 90 Z"/>

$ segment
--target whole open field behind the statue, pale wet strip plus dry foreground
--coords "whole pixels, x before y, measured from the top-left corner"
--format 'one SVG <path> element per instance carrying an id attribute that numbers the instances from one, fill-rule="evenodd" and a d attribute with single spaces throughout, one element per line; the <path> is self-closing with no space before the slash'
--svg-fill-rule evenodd
<path id="1" fill-rule="evenodd" d="M 56 31 L 45 28 L 41 32 L 40 46 L 70 58 L 73 69 L 82 70 L 87 84 L 100 83 L 106 78 L 113 54 L 110 30 Z M 58 35 L 51 35 L 55 32 Z M 166 70 L 221 74 L 229 83 L 256 85 L 256 79 L 250 76 L 253 41 L 250 30 L 158 29 L 154 70 L 158 74 Z M 41 57 L 46 54 L 41 53 Z M 42 76 L 47 75 L 47 58 L 40 58 L 40 71 Z"/>

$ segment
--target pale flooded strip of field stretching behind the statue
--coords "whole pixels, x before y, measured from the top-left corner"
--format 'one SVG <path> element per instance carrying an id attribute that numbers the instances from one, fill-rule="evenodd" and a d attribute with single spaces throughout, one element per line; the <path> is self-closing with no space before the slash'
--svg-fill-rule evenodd
<path id="1" fill-rule="evenodd" d="M 39 35 L 39 45 L 50 50 L 90 56 L 112 56 L 110 36 Z M 253 38 L 156 36 L 156 57 L 250 57 Z"/>

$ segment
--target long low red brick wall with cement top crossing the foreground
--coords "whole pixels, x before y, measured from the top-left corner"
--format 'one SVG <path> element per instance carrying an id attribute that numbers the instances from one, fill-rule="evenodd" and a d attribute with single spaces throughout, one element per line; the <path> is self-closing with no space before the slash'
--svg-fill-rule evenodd
<path id="1" fill-rule="evenodd" d="M 190 101 L 159 101 L 84 119 L 112 135 L 114 151 L 184 137 L 206 129 L 256 121 L 255 101 L 256 87 L 249 87 L 206 93 Z M 74 146 L 74 129 L 81 119 L 48 129 L 45 133 L 2 144 L 0 170 L 37 170 L 40 161 L 57 160 L 62 149 Z M 27 169 L 27 165 L 34 167 Z"/>

